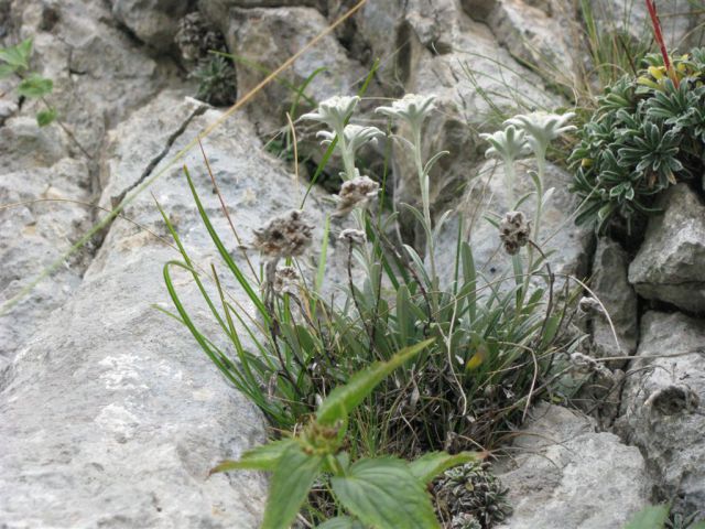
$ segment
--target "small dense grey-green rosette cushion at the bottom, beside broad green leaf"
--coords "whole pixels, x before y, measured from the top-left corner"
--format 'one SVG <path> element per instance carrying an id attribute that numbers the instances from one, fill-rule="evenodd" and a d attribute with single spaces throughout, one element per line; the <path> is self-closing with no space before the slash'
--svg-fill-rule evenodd
<path id="1" fill-rule="evenodd" d="M 452 528 L 488 529 L 501 522 L 512 511 L 507 493 L 489 463 L 456 466 L 434 483 L 436 510 Z"/>

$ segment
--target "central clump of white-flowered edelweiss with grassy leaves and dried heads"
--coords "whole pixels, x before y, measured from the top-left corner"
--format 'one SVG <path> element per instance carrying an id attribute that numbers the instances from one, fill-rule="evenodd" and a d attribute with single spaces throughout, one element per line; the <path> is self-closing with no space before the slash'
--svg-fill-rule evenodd
<path id="1" fill-rule="evenodd" d="M 325 484 L 328 478 L 333 486 L 322 485 L 317 498 L 328 507 L 310 508 L 310 519 L 321 522 L 345 512 L 368 526 L 386 528 L 399 526 L 366 518 L 336 489 L 336 479 L 368 465 L 361 463 L 368 458 L 410 461 L 420 454 L 496 447 L 505 432 L 521 422 L 531 402 L 547 393 L 555 379 L 554 356 L 576 345 L 573 338 L 562 336 L 567 305 L 554 296 L 555 278 L 539 244 L 542 210 L 552 193 L 543 184 L 545 154 L 553 140 L 571 130 L 566 126 L 571 115 L 518 116 L 502 131 L 487 137 L 491 144 L 488 154 L 505 162 L 508 186 L 517 177 L 517 158 L 533 154 L 538 168 L 531 173 L 533 193 L 512 201 L 513 210 L 497 224 L 497 242 L 505 248 L 512 272 L 488 282 L 475 264 L 471 246 L 462 238 L 463 229 L 456 241 L 454 273 L 441 278 L 436 270 L 436 241 L 449 212 L 434 219 L 429 193 L 431 169 L 445 153 L 429 160 L 421 154 L 423 127 L 434 110 L 434 97 L 408 95 L 378 109 L 391 125 L 403 123 L 401 129 L 408 131 L 391 138 L 409 149 L 415 161 L 421 199 L 419 206 L 395 206 L 409 210 L 426 234 L 423 248 L 404 245 L 390 235 L 397 231 L 393 226 L 399 217 L 380 207 L 384 182 L 361 174 L 356 166 L 357 151 L 383 136 L 376 127 L 349 122 L 358 102 L 358 97 L 334 97 L 302 117 L 324 126 L 319 138 L 328 149 L 336 149 L 343 161 L 343 185 L 323 226 L 315 272 L 305 267 L 316 239 L 305 198 L 300 208 L 254 230 L 248 245 L 241 244 L 243 239 L 236 231 L 238 249 L 234 251 L 214 228 L 186 171 L 194 201 L 227 273 L 247 293 L 257 314 L 251 316 L 229 298 L 215 268 L 208 274 L 197 269 L 165 213 L 183 260 L 167 263 L 164 278 L 177 311 L 173 315 L 189 328 L 224 376 L 263 411 L 275 431 L 302 432 L 294 435 L 303 446 L 296 449 L 302 462 L 300 450 L 308 454 L 308 446 L 317 453 L 323 446 L 311 441 L 314 438 L 328 440 L 323 446 L 326 454 L 346 453 L 345 464 L 327 457 L 311 463 L 315 472 L 311 471 L 311 479 L 302 487 L 307 489 L 314 479 Z M 217 191 L 215 179 L 213 183 Z M 536 207 L 530 220 L 520 208 L 531 195 L 535 195 Z M 336 293 L 335 302 L 324 289 L 333 237 L 337 251 L 347 256 L 343 272 L 346 287 Z M 172 280 L 174 267 L 191 272 L 223 330 L 225 347 L 194 323 Z M 215 290 L 208 288 L 208 279 Z M 416 349 L 420 344 L 424 347 Z M 366 373 L 377 363 L 395 363 L 399 352 L 409 348 L 417 354 L 395 364 L 398 368 L 377 380 L 365 399 L 347 409 L 345 418 L 335 415 L 335 420 L 322 422 L 321 406 L 325 408 L 336 395 L 359 389 L 355 374 Z M 311 425 L 314 413 L 317 420 Z M 338 420 L 343 422 L 338 424 Z M 347 434 L 345 443 L 338 438 L 340 432 Z M 273 466 L 267 469 L 273 469 L 276 483 L 278 471 Z M 486 469 L 480 469 L 487 477 Z M 479 469 L 468 472 L 478 474 Z M 486 501 L 485 511 L 477 512 L 482 528 L 507 511 L 500 507 L 502 494 L 494 488 L 490 492 L 494 499 Z M 272 484 L 271 495 L 281 494 Z M 454 512 L 459 514 L 467 499 L 459 498 Z M 350 523 L 340 527 L 358 527 Z"/>

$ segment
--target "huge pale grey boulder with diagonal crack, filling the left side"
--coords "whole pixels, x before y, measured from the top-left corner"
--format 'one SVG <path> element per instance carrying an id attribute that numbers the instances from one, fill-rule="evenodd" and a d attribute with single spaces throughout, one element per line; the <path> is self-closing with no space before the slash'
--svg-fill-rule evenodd
<path id="1" fill-rule="evenodd" d="M 172 111 L 160 116 L 164 108 Z M 165 93 L 121 125 L 108 150 L 116 159 L 104 164 L 101 202 L 154 177 L 151 191 L 194 262 L 208 267 L 215 250 L 182 164 L 192 169 L 234 251 L 237 241 L 225 230 L 197 148 L 192 144 L 178 164 L 170 165 L 198 131 L 221 117 L 215 110 L 199 112 L 181 95 Z M 163 129 L 163 136 L 155 136 L 163 143 L 142 141 L 145 129 Z M 203 144 L 246 240 L 273 213 L 297 204 L 292 177 L 262 153 L 242 118 L 231 119 Z M 323 208 L 313 201 L 315 215 Z M 162 267 L 178 259 L 165 244 L 154 198 L 145 192 L 134 195 L 124 216 L 141 227 L 123 218 L 112 223 L 72 299 L 45 317 L 15 360 L 2 368 L 0 520 L 12 529 L 258 527 L 267 497 L 263 477 L 207 476 L 220 460 L 262 442 L 263 420 L 225 382 L 187 330 L 154 307 L 173 310 Z M 231 283 L 224 267 L 217 268 L 224 283 Z M 193 317 L 224 345 L 188 277 L 174 277 Z M 246 304 L 241 290 L 231 294 Z"/>

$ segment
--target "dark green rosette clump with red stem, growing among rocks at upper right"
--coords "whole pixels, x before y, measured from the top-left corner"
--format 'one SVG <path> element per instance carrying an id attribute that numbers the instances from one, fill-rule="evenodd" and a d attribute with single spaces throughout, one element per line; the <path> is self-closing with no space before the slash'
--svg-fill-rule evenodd
<path id="1" fill-rule="evenodd" d="M 658 210 L 660 192 L 705 171 L 705 48 L 672 58 L 655 7 L 647 6 L 661 53 L 605 89 L 568 159 L 572 190 L 584 201 L 577 223 L 595 220 L 599 231 L 614 219 L 631 230 Z"/>

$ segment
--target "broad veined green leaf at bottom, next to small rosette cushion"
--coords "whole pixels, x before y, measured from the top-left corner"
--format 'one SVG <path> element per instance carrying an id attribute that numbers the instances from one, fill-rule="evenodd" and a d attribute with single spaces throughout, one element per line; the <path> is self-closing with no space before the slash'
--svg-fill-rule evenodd
<path id="1" fill-rule="evenodd" d="M 441 528 L 424 486 L 401 460 L 360 460 L 330 483 L 343 506 L 376 529 Z"/>

